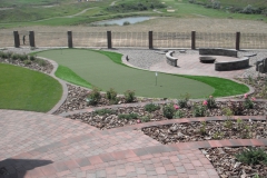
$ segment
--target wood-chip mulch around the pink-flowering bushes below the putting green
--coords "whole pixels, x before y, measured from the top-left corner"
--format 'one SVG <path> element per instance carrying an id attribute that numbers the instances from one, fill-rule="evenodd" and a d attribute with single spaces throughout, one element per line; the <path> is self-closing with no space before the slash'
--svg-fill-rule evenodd
<path id="1" fill-rule="evenodd" d="M 201 105 L 201 102 L 195 102 L 197 105 Z M 241 102 L 238 102 L 241 103 Z M 166 103 L 168 105 L 168 103 Z M 136 106 L 136 107 L 118 107 L 117 109 L 99 109 L 102 110 L 102 116 L 97 115 L 96 112 L 82 112 L 76 113 L 71 116 L 67 116 L 67 118 L 78 119 L 86 123 L 89 123 L 93 127 L 97 127 L 101 130 L 111 129 L 117 127 L 123 127 L 127 125 L 135 125 L 140 122 L 148 122 L 148 121 L 159 121 L 159 120 L 167 120 L 164 116 L 164 107 L 166 105 L 158 105 L 159 109 L 152 112 L 146 111 L 145 107 Z M 227 108 L 231 102 L 217 102 L 218 108 L 215 109 L 207 109 L 207 116 L 224 116 L 224 108 Z M 255 109 L 245 109 L 243 110 L 244 116 L 264 116 L 266 115 L 266 103 L 265 102 L 256 102 Z M 107 111 L 108 110 L 108 111 Z M 184 118 L 192 118 L 194 109 L 191 107 L 179 109 L 179 111 L 184 112 Z M 120 119 L 119 115 L 129 115 L 129 113 L 137 113 L 138 117 L 131 119 Z M 177 118 L 175 115 L 174 118 Z"/>

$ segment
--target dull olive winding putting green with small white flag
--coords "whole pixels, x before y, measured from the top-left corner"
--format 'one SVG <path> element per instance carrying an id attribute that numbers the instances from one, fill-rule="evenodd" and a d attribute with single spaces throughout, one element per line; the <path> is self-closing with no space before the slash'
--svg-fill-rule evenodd
<path id="1" fill-rule="evenodd" d="M 113 62 L 107 56 L 86 49 L 48 50 L 38 53 L 70 68 L 91 85 L 106 91 L 113 88 L 118 93 L 135 90 L 137 96 L 151 98 L 178 98 L 186 92 L 190 98 L 204 98 L 214 88 L 184 77 L 138 70 Z"/>

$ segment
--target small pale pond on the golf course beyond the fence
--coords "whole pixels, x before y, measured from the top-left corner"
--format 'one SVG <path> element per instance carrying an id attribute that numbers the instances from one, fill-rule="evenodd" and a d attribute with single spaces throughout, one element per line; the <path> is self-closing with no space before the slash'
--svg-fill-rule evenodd
<path id="1" fill-rule="evenodd" d="M 118 26 L 123 26 L 123 22 L 129 22 L 131 24 L 150 20 L 151 17 L 129 17 L 129 18 L 122 18 L 122 19 L 112 19 L 112 20 L 105 20 L 105 21 L 99 21 L 95 22 L 93 24 L 118 24 Z"/>

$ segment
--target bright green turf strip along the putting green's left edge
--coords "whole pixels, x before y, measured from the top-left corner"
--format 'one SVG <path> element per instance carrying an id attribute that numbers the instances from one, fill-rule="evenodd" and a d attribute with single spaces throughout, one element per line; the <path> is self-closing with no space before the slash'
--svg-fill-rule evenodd
<path id="1" fill-rule="evenodd" d="M 63 67 L 61 65 L 59 65 L 55 75 L 58 78 L 66 80 L 68 82 L 87 87 L 87 88 L 92 88 L 92 86 L 88 81 L 80 78 L 80 76 L 76 75 L 70 68 Z"/>

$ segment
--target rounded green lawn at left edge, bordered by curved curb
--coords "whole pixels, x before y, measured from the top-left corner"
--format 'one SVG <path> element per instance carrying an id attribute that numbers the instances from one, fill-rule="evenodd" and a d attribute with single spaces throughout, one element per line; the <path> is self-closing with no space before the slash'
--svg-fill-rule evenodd
<path id="1" fill-rule="evenodd" d="M 59 101 L 61 85 L 50 76 L 0 63 L 0 108 L 47 112 Z"/>

